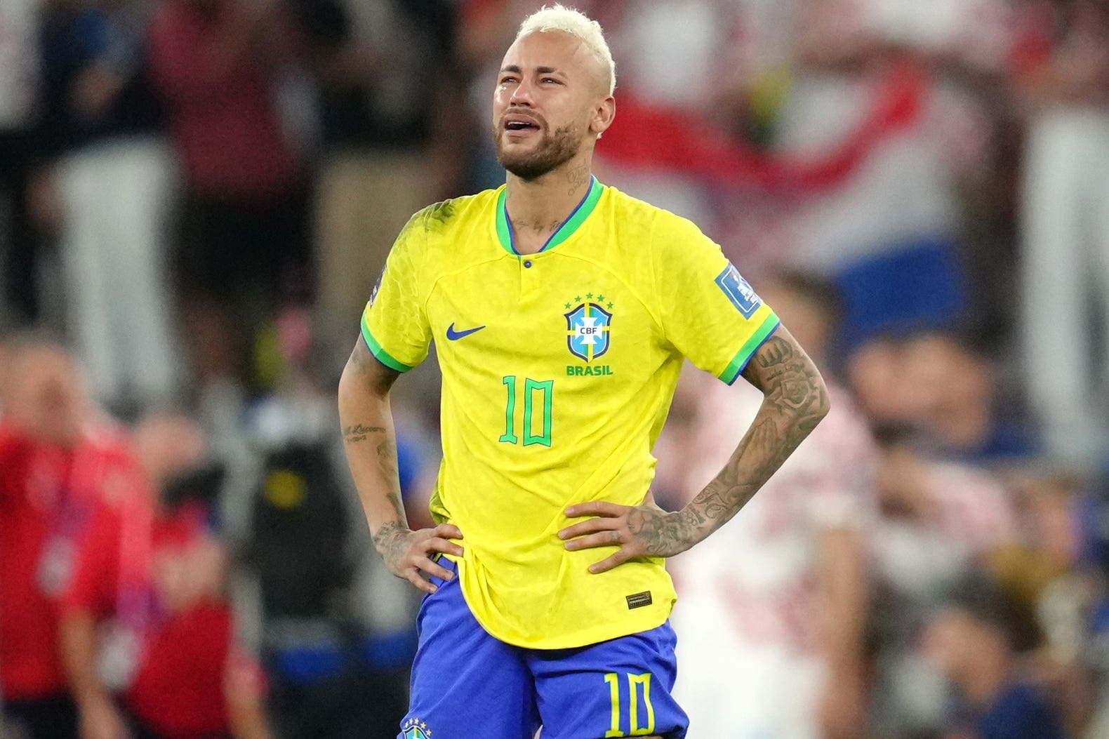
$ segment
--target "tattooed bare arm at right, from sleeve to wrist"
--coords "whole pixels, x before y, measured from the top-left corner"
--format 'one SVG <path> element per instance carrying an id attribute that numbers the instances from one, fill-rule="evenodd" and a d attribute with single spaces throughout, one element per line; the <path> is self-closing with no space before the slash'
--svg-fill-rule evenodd
<path id="1" fill-rule="evenodd" d="M 652 551 L 678 554 L 723 526 L 827 414 L 824 381 L 792 337 L 771 336 L 743 375 L 763 392 L 763 403 L 724 468 L 682 510 L 648 509 L 629 519 Z"/>

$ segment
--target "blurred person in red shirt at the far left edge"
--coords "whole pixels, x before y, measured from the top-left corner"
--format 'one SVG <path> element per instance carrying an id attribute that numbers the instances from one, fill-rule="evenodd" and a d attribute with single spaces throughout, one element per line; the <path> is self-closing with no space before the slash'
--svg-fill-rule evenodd
<path id="1" fill-rule="evenodd" d="M 126 487 L 120 433 L 95 418 L 73 360 L 13 342 L 0 387 L 0 682 L 7 721 L 32 739 L 77 736 L 58 656 L 58 598 L 94 503 Z"/>

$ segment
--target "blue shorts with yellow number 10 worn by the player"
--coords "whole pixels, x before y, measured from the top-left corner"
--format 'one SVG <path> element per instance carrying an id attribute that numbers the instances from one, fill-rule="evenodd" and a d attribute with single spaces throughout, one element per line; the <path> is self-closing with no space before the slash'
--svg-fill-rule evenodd
<path id="1" fill-rule="evenodd" d="M 447 569 L 457 565 L 439 560 Z M 657 629 L 574 649 L 525 649 L 474 618 L 458 578 L 431 581 L 417 626 L 411 699 L 397 739 L 681 739 L 670 695 L 676 637 Z"/>

